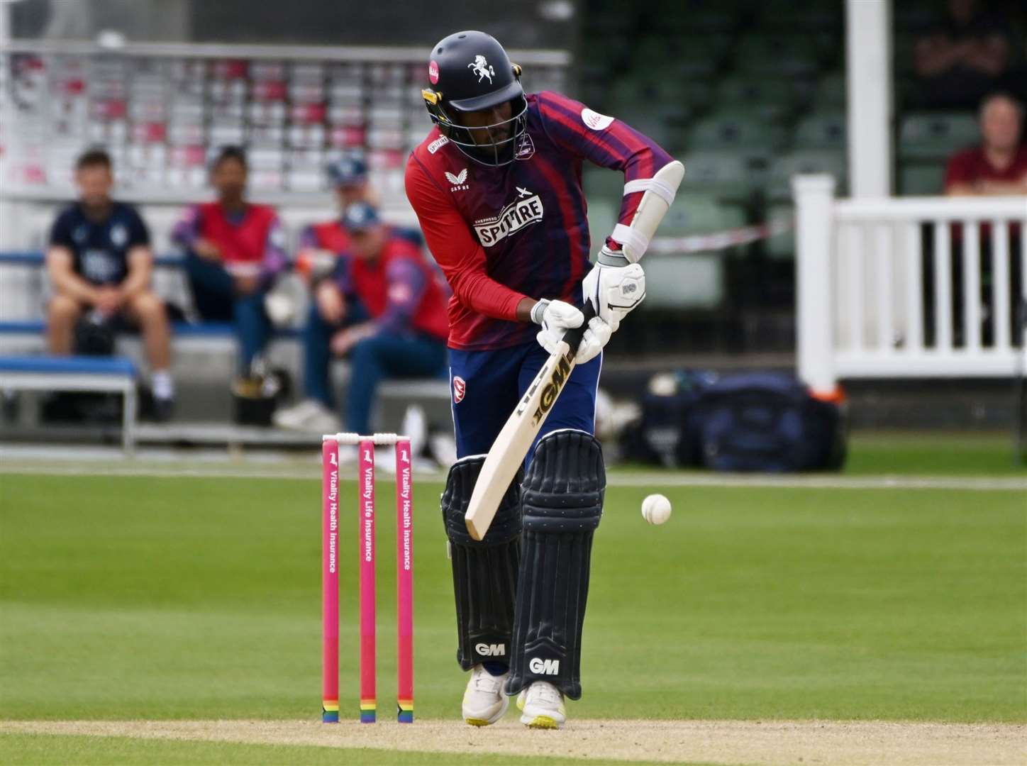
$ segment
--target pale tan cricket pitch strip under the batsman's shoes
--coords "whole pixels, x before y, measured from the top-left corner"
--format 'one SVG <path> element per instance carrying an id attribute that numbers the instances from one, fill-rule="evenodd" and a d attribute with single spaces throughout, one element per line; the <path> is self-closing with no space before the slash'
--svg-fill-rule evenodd
<path id="1" fill-rule="evenodd" d="M 0 733 L 306 744 L 339 749 L 578 759 L 978 766 L 1027 763 L 1027 725 L 882 721 L 571 721 L 533 731 L 511 716 L 474 729 L 455 721 L 321 724 L 306 721 L 5 721 Z"/>

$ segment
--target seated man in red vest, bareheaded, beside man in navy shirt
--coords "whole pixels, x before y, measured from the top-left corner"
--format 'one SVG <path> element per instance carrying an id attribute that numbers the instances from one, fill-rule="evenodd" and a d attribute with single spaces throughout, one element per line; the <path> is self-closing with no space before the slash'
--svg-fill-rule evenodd
<path id="1" fill-rule="evenodd" d="M 222 149 L 211 168 L 217 201 L 192 206 L 172 234 L 186 248 L 196 311 L 206 321 L 234 322 L 244 376 L 271 334 L 264 296 L 288 264 L 274 209 L 245 200 L 246 173 L 241 149 Z"/>

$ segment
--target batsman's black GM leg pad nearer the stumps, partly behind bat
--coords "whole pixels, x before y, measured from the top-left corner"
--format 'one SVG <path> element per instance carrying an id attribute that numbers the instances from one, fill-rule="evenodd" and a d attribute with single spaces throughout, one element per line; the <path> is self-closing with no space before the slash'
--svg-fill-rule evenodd
<path id="1" fill-rule="evenodd" d="M 484 455 L 476 455 L 454 463 L 442 499 L 456 595 L 456 659 L 464 671 L 486 661 L 509 662 L 521 562 L 521 472 L 485 538 L 474 540 L 467 532 L 463 514 L 484 462 Z"/>

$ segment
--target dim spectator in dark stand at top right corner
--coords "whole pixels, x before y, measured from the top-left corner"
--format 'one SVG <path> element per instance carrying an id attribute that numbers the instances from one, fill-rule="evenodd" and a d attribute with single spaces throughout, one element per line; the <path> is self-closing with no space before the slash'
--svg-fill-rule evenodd
<path id="1" fill-rule="evenodd" d="M 1012 34 L 978 0 L 949 0 L 947 11 L 916 43 L 920 98 L 926 107 L 973 109 L 1006 75 Z"/>

